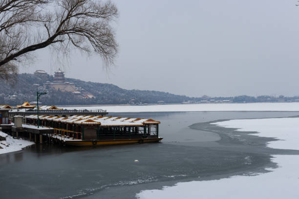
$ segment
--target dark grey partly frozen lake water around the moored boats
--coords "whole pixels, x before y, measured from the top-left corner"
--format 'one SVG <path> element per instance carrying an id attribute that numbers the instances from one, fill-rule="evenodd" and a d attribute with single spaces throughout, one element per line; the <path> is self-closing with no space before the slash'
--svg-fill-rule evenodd
<path id="1" fill-rule="evenodd" d="M 276 167 L 274 139 L 209 124 L 218 119 L 275 118 L 299 112 L 159 112 L 112 116 L 161 121 L 162 143 L 96 148 L 33 145 L 0 155 L 0 198 L 127 199 L 179 181 L 251 175 Z M 200 122 L 200 123 L 199 123 Z M 192 125 L 193 124 L 193 125 Z M 190 126 L 190 127 L 189 127 Z M 139 162 L 134 162 L 138 159 Z"/>

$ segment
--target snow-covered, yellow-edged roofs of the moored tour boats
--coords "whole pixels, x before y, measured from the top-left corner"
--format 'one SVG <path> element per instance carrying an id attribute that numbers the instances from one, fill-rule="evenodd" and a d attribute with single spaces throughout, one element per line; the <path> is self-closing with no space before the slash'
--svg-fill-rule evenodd
<path id="1" fill-rule="evenodd" d="M 37 115 L 26 116 L 28 119 L 37 119 Z M 42 115 L 40 119 L 53 120 L 71 124 L 90 124 L 100 126 L 144 126 L 145 124 L 159 124 L 153 119 L 102 117 L 102 116 L 71 116 L 68 118 Z"/>

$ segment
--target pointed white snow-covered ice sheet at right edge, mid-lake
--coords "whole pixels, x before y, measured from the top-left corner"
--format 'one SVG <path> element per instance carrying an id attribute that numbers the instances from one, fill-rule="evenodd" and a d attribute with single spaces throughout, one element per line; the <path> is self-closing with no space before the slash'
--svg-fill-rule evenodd
<path id="1" fill-rule="evenodd" d="M 268 147 L 299 150 L 299 118 L 232 119 L 214 123 L 238 131 L 256 131 L 256 136 L 281 139 Z"/>

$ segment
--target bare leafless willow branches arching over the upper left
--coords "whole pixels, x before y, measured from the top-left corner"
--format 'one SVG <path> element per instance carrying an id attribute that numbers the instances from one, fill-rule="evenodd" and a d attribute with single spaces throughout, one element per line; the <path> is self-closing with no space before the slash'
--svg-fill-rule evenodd
<path id="1" fill-rule="evenodd" d="M 117 43 L 109 0 L 0 0 L 0 78 L 8 80 L 32 52 L 52 47 L 95 53 L 113 63 Z"/>

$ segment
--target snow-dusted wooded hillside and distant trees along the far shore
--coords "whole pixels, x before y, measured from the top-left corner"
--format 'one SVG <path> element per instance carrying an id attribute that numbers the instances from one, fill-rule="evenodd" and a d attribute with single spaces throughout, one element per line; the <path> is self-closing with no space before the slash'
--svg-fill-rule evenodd
<path id="1" fill-rule="evenodd" d="M 52 81 L 52 76 L 39 77 L 33 74 L 19 74 L 16 83 L 10 85 L 4 80 L 0 80 L 0 104 L 18 105 L 24 101 L 36 101 L 36 86 L 46 81 Z M 237 97 L 208 97 L 191 98 L 182 95 L 173 95 L 167 92 L 159 91 L 141 91 L 126 90 L 113 84 L 95 83 L 66 78 L 67 82 L 74 83 L 91 93 L 94 98 L 78 98 L 76 94 L 62 92 L 60 90 L 47 90 L 47 95 L 41 97 L 42 104 L 46 105 L 75 105 L 75 104 L 146 104 L 146 103 L 221 103 L 221 102 L 276 102 L 276 101 L 294 101 L 299 97 L 275 98 L 273 96 L 237 96 Z"/>

